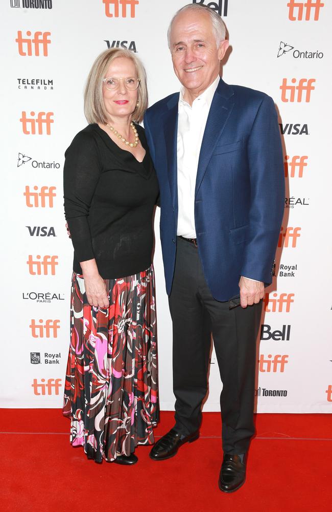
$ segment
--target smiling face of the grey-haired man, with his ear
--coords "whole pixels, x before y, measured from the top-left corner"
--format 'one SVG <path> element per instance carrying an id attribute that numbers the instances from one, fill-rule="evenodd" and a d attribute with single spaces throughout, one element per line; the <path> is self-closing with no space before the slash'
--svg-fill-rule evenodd
<path id="1" fill-rule="evenodd" d="M 197 97 L 217 78 L 228 41 L 217 47 L 210 16 L 190 10 L 175 18 L 170 39 L 175 74 L 189 96 Z"/>

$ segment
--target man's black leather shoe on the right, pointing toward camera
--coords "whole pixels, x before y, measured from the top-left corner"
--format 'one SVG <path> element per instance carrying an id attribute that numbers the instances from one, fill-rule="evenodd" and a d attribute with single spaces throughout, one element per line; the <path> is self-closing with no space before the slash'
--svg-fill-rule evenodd
<path id="1" fill-rule="evenodd" d="M 223 493 L 233 493 L 240 489 L 246 480 L 246 461 L 239 455 L 224 454 L 219 475 L 219 488 Z"/>

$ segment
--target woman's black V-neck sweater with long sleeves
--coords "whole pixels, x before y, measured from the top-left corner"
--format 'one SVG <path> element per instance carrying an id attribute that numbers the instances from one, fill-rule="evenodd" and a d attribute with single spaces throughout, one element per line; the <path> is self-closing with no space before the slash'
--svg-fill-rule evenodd
<path id="1" fill-rule="evenodd" d="M 143 162 L 117 146 L 98 124 L 79 132 L 65 152 L 64 210 L 74 245 L 74 272 L 96 259 L 103 279 L 151 265 L 152 216 L 159 189 L 144 129 Z"/>

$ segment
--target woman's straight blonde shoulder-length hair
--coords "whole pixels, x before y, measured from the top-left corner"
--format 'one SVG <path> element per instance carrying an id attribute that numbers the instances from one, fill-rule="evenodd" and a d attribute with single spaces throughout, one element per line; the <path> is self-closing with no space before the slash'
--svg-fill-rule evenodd
<path id="1" fill-rule="evenodd" d="M 132 114 L 132 120 L 140 122 L 143 120 L 145 111 L 148 108 L 147 74 L 143 64 L 130 50 L 122 48 L 111 48 L 105 50 L 93 62 L 92 68 L 86 80 L 84 90 L 84 115 L 89 124 L 108 122 L 107 112 L 103 99 L 103 78 L 110 63 L 118 58 L 125 57 L 135 65 L 137 78 L 140 80 L 137 94 L 137 105 Z"/>

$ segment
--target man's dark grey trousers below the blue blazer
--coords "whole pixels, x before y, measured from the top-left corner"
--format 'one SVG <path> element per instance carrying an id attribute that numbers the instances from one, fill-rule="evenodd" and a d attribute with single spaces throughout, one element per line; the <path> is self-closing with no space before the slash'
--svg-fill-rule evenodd
<path id="1" fill-rule="evenodd" d="M 223 390 L 220 396 L 223 450 L 248 450 L 254 434 L 256 337 L 262 301 L 246 309 L 229 310 L 228 302 L 212 297 L 198 250 L 178 237 L 172 292 L 173 391 L 175 428 L 183 434 L 199 429 L 201 406 L 207 392 L 210 332 Z"/>

